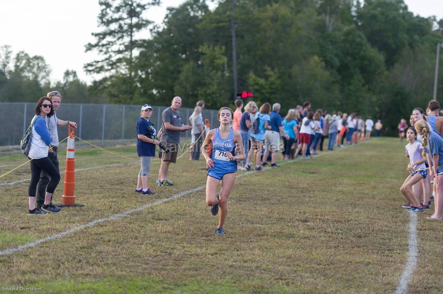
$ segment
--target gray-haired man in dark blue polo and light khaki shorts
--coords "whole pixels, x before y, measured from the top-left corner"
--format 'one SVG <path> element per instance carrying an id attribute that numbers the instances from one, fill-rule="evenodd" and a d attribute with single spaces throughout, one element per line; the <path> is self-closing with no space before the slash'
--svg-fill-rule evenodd
<path id="1" fill-rule="evenodd" d="M 281 123 L 281 116 L 278 114 L 280 112 L 280 103 L 274 103 L 272 105 L 272 111 L 269 114 L 271 120 L 269 125 L 271 130 L 266 130 L 264 132 L 264 146 L 265 151 L 263 154 L 263 166 L 268 165 L 268 155 L 271 153 L 271 166 L 273 168 L 278 167 L 276 164 L 277 152 L 280 150 L 280 136 L 284 136 L 286 140 L 289 139 L 289 135 L 284 133 L 284 128 Z"/>

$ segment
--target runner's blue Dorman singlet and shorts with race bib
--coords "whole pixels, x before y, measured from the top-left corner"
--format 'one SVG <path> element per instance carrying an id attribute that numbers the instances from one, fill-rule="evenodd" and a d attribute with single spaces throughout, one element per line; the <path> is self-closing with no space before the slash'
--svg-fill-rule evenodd
<path id="1" fill-rule="evenodd" d="M 212 149 L 209 157 L 214 161 L 214 167 L 208 168 L 208 176 L 216 179 L 222 179 L 225 174 L 237 172 L 237 161 L 230 160 L 226 153 L 235 156 L 234 130 L 231 128 L 229 136 L 223 140 L 215 129 L 214 140 L 212 140 Z"/>

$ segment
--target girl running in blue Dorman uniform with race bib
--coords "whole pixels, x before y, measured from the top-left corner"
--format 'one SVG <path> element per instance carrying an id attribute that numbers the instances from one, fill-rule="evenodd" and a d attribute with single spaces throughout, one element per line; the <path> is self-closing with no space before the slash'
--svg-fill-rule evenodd
<path id="1" fill-rule="evenodd" d="M 212 215 L 217 215 L 220 209 L 218 227 L 214 232 L 219 235 L 225 234 L 223 224 L 228 212 L 228 197 L 237 176 L 237 161 L 245 159 L 241 135 L 231 128 L 233 115 L 229 107 L 221 107 L 218 111 L 220 127 L 210 130 L 202 145 L 202 154 L 206 159 L 208 169 L 206 204 L 211 206 Z M 221 190 L 218 194 L 221 180 Z"/>

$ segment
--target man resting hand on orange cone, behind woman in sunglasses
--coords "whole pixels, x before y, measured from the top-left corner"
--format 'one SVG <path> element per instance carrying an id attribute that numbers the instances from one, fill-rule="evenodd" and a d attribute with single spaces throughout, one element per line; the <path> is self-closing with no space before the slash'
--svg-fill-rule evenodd
<path id="1" fill-rule="evenodd" d="M 54 110 L 54 115 L 50 118 L 46 117 L 45 122 L 48 127 L 49 133 L 52 137 L 51 146 L 54 146 L 52 149 L 48 151 L 48 157 L 54 164 L 55 168 L 57 168 L 58 172 L 60 172 L 58 168 L 58 158 L 57 158 L 57 149 L 58 149 L 58 133 L 57 126 L 72 126 L 77 128 L 77 124 L 75 122 L 65 121 L 57 118 L 55 111 L 57 111 L 58 107 L 60 107 L 60 103 L 62 102 L 62 95 L 58 91 L 49 92 L 46 95 L 48 98 L 51 98 L 52 109 Z M 45 201 L 46 187 L 49 183 L 49 175 L 46 172 L 40 174 L 40 180 L 37 185 L 37 208 L 40 209 Z M 52 202 L 52 197 L 51 197 Z"/>

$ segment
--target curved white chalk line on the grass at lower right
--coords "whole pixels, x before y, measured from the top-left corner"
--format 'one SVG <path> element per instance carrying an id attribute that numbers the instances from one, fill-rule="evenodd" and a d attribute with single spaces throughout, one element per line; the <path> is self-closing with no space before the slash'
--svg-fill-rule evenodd
<path id="1" fill-rule="evenodd" d="M 417 267 L 417 213 L 411 212 L 409 221 L 409 245 L 408 245 L 408 261 L 404 267 L 403 275 L 401 275 L 400 283 L 395 290 L 395 294 L 408 293 L 408 284 L 412 279 L 412 274 Z"/>

